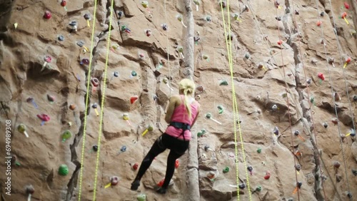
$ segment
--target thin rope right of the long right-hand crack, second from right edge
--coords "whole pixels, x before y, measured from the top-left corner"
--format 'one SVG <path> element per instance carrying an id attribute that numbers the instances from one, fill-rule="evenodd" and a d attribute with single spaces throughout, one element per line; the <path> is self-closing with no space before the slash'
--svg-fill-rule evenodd
<path id="1" fill-rule="evenodd" d="M 316 0 L 316 8 L 317 8 L 317 12 L 318 12 L 318 21 L 320 21 L 320 14 L 318 11 L 318 1 Z M 323 24 L 320 25 L 320 29 L 321 29 L 321 36 L 322 36 L 322 40 L 325 41 L 325 37 L 323 36 Z M 331 71 L 330 71 L 330 66 L 328 63 L 328 56 L 327 56 L 327 50 L 326 50 L 326 44 L 323 42 L 323 49 L 325 51 L 325 56 L 326 56 L 326 64 L 327 64 L 327 69 L 328 69 L 328 80 L 330 81 L 331 84 L 331 93 L 332 93 L 332 101 L 333 101 L 333 108 L 335 108 L 335 114 L 336 114 L 336 118 L 337 118 L 337 126 L 338 126 L 338 139 L 340 140 L 340 145 L 341 145 L 341 152 L 342 152 L 342 158 L 343 158 L 343 165 L 345 166 L 345 173 L 346 173 L 346 182 L 347 182 L 347 189 L 348 192 L 350 191 L 350 185 L 348 182 L 348 175 L 347 175 L 347 169 L 346 169 L 346 159 L 345 159 L 345 154 L 343 151 L 343 143 L 342 143 L 342 139 L 341 139 L 341 128 L 340 128 L 340 120 L 338 120 L 338 113 L 337 113 L 337 106 L 336 106 L 336 101 L 335 98 L 333 96 L 333 82 L 332 82 L 332 77 L 331 77 Z M 349 197 L 351 199 L 351 197 Z"/>

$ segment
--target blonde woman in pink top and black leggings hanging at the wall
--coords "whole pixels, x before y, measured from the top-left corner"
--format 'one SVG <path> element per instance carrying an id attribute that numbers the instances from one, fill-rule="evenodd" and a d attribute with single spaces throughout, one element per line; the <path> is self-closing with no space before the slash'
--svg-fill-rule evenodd
<path id="1" fill-rule="evenodd" d="M 139 172 L 131 183 L 131 190 L 138 190 L 141 177 L 150 167 L 154 158 L 169 149 L 167 158 L 167 168 L 164 184 L 156 190 L 161 194 L 166 193 L 167 187 L 175 171 L 176 159 L 180 158 L 188 149 L 191 140 L 191 131 L 196 122 L 200 105 L 193 98 L 195 84 L 189 79 L 183 79 L 178 83 L 179 95 L 172 96 L 169 101 L 169 107 L 166 111 L 165 120 L 169 123 L 163 135 L 156 139 L 154 145 L 149 150 L 141 162 Z"/>

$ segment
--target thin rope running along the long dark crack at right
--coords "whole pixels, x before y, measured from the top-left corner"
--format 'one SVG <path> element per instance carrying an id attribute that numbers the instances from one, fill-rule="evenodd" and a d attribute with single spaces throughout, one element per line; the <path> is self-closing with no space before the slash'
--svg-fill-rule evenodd
<path id="1" fill-rule="evenodd" d="M 294 4 L 295 4 L 295 2 L 292 0 L 293 11 L 295 11 Z M 299 30 L 299 26 L 296 23 L 296 17 L 295 17 L 294 14 L 291 14 L 291 15 L 293 16 L 293 23 L 296 25 L 296 31 L 299 34 L 300 31 L 298 31 Z M 301 40 L 300 39 L 298 40 L 298 47 L 299 47 L 298 51 L 300 51 L 300 55 L 301 55 L 302 51 L 301 51 Z M 301 59 L 301 63 L 302 63 L 302 66 L 303 66 L 303 74 L 304 74 L 304 77 L 306 78 L 307 74 L 306 74 L 306 70 L 305 70 L 305 64 L 303 63 L 303 59 Z M 308 95 L 308 100 L 310 100 L 309 88 L 310 88 L 310 86 L 306 85 L 306 93 Z M 317 149 L 316 151 L 318 151 L 318 142 L 317 142 L 317 138 L 316 138 L 316 126 L 315 126 L 315 122 L 313 120 L 313 113 L 312 113 L 312 109 L 311 109 L 313 103 L 311 103 L 311 101 L 308 101 L 308 103 L 309 103 L 309 107 L 310 107 L 310 111 L 311 111 L 311 121 L 313 123 L 313 135 L 314 135 L 315 143 L 316 143 L 316 149 Z M 318 154 L 318 158 L 319 158 L 319 160 L 322 161 L 321 155 Z M 320 175 L 322 176 L 321 163 L 318 166 L 319 166 L 318 169 L 320 170 Z M 323 197 L 326 200 L 326 192 L 325 192 L 325 187 L 323 186 L 323 182 L 321 182 L 321 185 L 322 185 L 322 189 L 323 189 Z"/>

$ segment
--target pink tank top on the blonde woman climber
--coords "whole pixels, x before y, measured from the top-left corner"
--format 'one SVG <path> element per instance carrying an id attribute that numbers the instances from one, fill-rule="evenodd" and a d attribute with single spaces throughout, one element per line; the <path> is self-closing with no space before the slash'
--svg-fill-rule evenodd
<path id="1" fill-rule="evenodd" d="M 196 101 L 193 101 L 193 103 L 191 103 L 191 115 L 192 115 L 192 118 L 189 119 L 183 98 L 184 98 L 184 96 L 181 95 L 181 105 L 178 105 L 175 108 L 174 113 L 172 114 L 172 117 L 171 117 L 171 122 L 180 122 L 180 123 L 187 123 L 188 125 L 192 125 L 193 120 L 195 120 L 196 115 L 198 113 L 199 104 Z M 171 136 L 173 136 L 175 138 L 178 137 L 178 139 L 181 139 L 181 140 L 191 140 L 191 131 L 190 130 L 186 130 L 185 133 L 183 133 L 183 135 L 185 136 L 185 138 L 183 138 L 183 135 L 181 135 L 182 129 L 175 128 L 172 125 L 169 125 L 166 128 L 165 133 L 168 134 L 168 135 L 171 135 Z"/>

